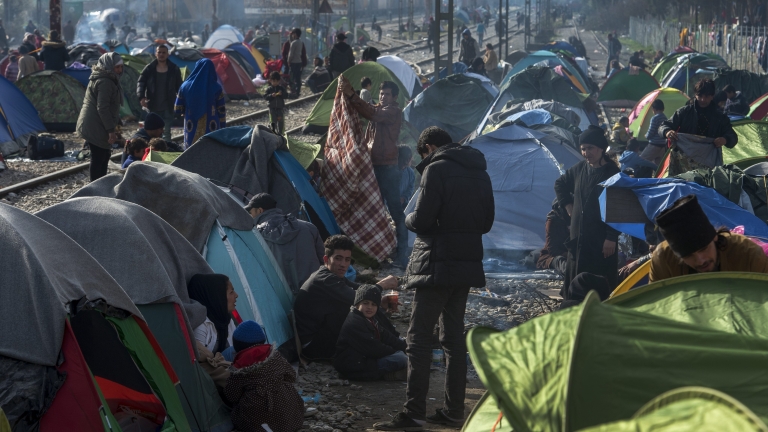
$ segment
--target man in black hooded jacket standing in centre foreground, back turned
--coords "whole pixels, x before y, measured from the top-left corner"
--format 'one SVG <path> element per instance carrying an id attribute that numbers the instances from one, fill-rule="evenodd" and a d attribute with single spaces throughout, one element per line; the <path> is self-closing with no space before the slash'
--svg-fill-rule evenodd
<path id="1" fill-rule="evenodd" d="M 419 430 L 424 421 L 459 427 L 464 423 L 467 346 L 464 311 L 470 287 L 485 286 L 483 234 L 493 226 L 495 207 L 485 156 L 469 146 L 453 144 L 451 136 L 428 127 L 417 150 L 423 160 L 421 193 L 406 226 L 416 233 L 405 275 L 416 288 L 408 328 L 408 387 L 405 410 L 377 430 Z M 444 408 L 426 415 L 432 335 L 440 323 L 445 350 Z"/>

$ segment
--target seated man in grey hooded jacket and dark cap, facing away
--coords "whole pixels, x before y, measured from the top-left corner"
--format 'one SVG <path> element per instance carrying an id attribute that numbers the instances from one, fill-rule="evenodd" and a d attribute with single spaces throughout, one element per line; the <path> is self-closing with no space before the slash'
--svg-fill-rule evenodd
<path id="1" fill-rule="evenodd" d="M 277 208 L 277 201 L 267 193 L 251 198 L 245 210 L 254 218 L 256 229 L 266 240 L 295 295 L 323 263 L 323 242 L 317 227 L 293 215 L 284 215 Z"/>

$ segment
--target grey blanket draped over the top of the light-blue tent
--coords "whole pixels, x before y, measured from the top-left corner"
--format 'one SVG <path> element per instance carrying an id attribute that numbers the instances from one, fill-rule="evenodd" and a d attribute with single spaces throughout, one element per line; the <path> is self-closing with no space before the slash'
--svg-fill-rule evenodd
<path id="1" fill-rule="evenodd" d="M 194 147 L 194 146 L 193 146 Z M 253 218 L 208 180 L 183 169 L 155 162 L 131 164 L 77 191 L 72 198 L 102 196 L 138 204 L 160 216 L 199 252 L 216 219 L 223 226 L 250 231 Z"/>

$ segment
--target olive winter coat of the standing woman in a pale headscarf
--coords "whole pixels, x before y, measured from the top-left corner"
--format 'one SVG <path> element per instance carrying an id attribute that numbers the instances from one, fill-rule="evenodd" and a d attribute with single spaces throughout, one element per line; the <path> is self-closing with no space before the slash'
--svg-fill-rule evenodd
<path id="1" fill-rule="evenodd" d="M 80 116 L 77 133 L 90 144 L 109 149 L 109 134 L 120 122 L 120 105 L 123 103 L 118 78 L 113 73 L 92 73 Z"/>

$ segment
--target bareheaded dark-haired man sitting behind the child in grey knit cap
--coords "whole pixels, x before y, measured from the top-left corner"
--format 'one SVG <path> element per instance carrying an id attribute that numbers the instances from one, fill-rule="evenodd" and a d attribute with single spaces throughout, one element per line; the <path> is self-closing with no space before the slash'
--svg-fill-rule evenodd
<path id="1" fill-rule="evenodd" d="M 309 359 L 330 359 L 336 352 L 341 327 L 355 301 L 355 290 L 360 286 L 344 277 L 352 264 L 354 247 L 347 236 L 328 237 L 324 264 L 312 273 L 296 295 L 293 305 L 296 329 L 302 354 Z M 376 285 L 382 291 L 396 289 L 397 278 L 387 276 Z M 376 319 L 382 327 L 399 336 L 381 310 Z"/>

